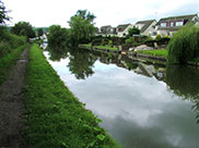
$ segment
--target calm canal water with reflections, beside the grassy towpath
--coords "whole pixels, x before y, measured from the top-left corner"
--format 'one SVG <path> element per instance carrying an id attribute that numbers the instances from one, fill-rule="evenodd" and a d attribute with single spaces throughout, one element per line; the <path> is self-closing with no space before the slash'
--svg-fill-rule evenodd
<path id="1" fill-rule="evenodd" d="M 67 87 L 124 148 L 199 148 L 199 70 L 125 55 L 44 52 Z"/>

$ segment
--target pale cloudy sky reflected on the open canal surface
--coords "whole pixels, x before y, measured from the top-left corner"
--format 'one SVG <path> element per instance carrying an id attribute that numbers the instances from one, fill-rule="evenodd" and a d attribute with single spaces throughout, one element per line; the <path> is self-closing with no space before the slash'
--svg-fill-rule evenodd
<path id="1" fill-rule="evenodd" d="M 98 60 L 92 76 L 77 79 L 67 66 L 69 59 L 49 62 L 124 147 L 199 147 L 194 103 L 175 95 L 166 83 Z"/>

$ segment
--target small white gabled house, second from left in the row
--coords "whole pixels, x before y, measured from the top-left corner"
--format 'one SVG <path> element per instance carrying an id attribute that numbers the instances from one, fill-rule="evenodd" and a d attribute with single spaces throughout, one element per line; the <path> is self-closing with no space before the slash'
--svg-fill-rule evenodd
<path id="1" fill-rule="evenodd" d="M 118 25 L 118 26 L 116 27 L 117 36 L 118 36 L 118 37 L 125 37 L 126 35 L 128 35 L 128 30 L 129 30 L 130 28 L 132 28 L 132 27 L 133 27 L 133 25 L 131 25 L 131 24 Z"/>

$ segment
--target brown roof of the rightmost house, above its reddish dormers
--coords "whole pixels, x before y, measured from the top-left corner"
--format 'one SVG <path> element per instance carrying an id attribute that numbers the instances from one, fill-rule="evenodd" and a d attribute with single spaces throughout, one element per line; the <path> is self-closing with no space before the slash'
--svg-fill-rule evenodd
<path id="1" fill-rule="evenodd" d="M 187 22 L 190 22 L 195 16 L 197 16 L 197 14 L 163 17 L 159 21 L 157 25 L 160 25 L 161 22 L 175 21 L 175 20 L 187 20 Z"/>

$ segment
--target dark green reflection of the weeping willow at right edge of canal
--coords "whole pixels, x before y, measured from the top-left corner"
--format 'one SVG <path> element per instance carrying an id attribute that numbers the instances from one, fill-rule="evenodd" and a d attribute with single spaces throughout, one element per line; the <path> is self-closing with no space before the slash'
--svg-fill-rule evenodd
<path id="1" fill-rule="evenodd" d="M 199 70 L 190 66 L 168 65 L 166 67 L 166 84 L 178 96 L 190 99 L 197 112 L 199 123 Z"/>

